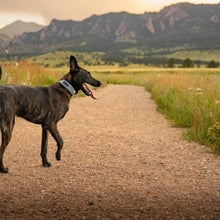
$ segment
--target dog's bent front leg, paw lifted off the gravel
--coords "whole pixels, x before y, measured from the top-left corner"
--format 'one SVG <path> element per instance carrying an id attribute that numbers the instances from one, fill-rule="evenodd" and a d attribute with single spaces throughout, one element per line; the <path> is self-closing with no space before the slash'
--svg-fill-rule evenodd
<path id="1" fill-rule="evenodd" d="M 63 148 L 63 139 L 59 134 L 56 123 L 51 123 L 47 126 L 48 131 L 57 142 L 56 159 L 61 160 L 61 150 Z"/>

